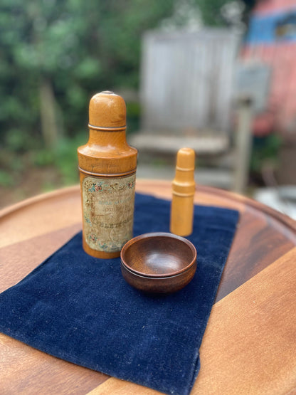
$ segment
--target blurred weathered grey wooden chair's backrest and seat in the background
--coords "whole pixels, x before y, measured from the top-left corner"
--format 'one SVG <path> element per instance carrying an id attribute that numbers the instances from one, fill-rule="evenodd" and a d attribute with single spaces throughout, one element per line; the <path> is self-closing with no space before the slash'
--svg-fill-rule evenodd
<path id="1" fill-rule="evenodd" d="M 159 147 L 155 135 L 166 137 L 167 149 L 184 146 L 184 138 L 196 152 L 228 147 L 239 41 L 236 33 L 220 28 L 144 36 L 137 147 Z"/>

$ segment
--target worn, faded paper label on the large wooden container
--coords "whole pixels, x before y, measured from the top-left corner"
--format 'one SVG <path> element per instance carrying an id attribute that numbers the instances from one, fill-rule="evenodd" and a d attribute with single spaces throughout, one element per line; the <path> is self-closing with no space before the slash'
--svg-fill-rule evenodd
<path id="1" fill-rule="evenodd" d="M 83 232 L 97 251 L 113 253 L 132 238 L 136 175 L 83 179 Z"/>

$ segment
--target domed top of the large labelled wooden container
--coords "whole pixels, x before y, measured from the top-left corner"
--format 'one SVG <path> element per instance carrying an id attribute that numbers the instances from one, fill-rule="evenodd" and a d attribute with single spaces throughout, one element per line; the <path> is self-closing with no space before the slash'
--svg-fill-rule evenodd
<path id="1" fill-rule="evenodd" d="M 126 126 L 125 100 L 105 90 L 90 99 L 89 127 L 92 129 L 124 129 Z"/>

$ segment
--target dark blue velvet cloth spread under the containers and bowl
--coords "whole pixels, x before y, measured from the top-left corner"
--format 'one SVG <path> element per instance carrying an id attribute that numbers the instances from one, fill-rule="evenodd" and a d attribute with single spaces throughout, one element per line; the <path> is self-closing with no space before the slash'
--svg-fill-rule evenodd
<path id="1" fill-rule="evenodd" d="M 134 235 L 169 231 L 170 203 L 136 196 Z M 171 295 L 129 286 L 120 258 L 88 256 L 78 233 L 0 295 L 0 330 L 36 349 L 157 389 L 189 394 L 238 212 L 195 206 L 194 280 Z"/>

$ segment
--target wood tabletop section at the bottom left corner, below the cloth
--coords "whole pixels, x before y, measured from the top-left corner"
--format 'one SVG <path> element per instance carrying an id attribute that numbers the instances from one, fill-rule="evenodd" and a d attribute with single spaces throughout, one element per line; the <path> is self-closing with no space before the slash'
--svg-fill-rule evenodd
<path id="1" fill-rule="evenodd" d="M 0 334 L 0 394 L 85 394 L 107 379 Z"/>

